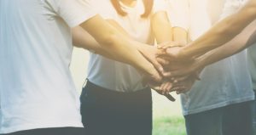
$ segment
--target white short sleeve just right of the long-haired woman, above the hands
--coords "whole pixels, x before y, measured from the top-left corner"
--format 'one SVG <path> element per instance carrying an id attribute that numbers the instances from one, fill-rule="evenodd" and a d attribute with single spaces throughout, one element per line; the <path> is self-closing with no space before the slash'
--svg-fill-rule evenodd
<path id="1" fill-rule="evenodd" d="M 172 27 L 189 29 L 189 1 L 188 0 L 169 0 L 168 14 Z"/>

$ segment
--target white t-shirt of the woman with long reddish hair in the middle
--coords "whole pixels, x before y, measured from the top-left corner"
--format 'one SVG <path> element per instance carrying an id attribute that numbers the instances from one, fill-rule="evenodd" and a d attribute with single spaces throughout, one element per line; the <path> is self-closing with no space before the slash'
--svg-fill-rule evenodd
<path id="1" fill-rule="evenodd" d="M 134 8 L 120 3 L 128 13 L 123 17 L 115 11 L 110 0 L 93 0 L 91 4 L 106 20 L 115 20 L 130 36 L 139 41 L 154 45 L 154 36 L 150 27 L 150 19 L 141 18 L 144 13 L 143 0 L 137 0 Z M 154 1 L 153 13 L 165 11 L 165 3 L 162 0 Z M 88 79 L 90 82 L 119 92 L 133 92 L 145 88 L 142 76 L 131 65 L 126 65 L 107 59 L 101 55 L 90 53 L 88 67 Z"/>

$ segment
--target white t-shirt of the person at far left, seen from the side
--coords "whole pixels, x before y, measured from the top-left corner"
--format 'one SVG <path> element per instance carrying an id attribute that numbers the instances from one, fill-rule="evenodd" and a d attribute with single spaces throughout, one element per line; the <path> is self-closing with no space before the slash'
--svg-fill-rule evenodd
<path id="1" fill-rule="evenodd" d="M 70 27 L 94 15 L 85 0 L 0 1 L 0 133 L 83 127 Z"/>

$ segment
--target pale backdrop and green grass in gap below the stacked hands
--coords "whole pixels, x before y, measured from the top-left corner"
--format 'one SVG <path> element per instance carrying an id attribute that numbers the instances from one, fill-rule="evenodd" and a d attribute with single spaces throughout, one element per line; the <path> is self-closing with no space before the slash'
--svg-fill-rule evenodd
<path id="1" fill-rule="evenodd" d="M 173 96 L 176 102 L 153 92 L 153 135 L 186 135 L 180 100 Z"/>

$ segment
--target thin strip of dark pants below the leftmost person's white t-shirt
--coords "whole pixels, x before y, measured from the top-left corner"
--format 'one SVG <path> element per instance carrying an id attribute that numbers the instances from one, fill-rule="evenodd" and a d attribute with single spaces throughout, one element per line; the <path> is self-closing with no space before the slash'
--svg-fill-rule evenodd
<path id="1" fill-rule="evenodd" d="M 86 135 L 84 128 L 62 127 L 62 128 L 42 128 L 14 132 L 1 135 Z"/>

